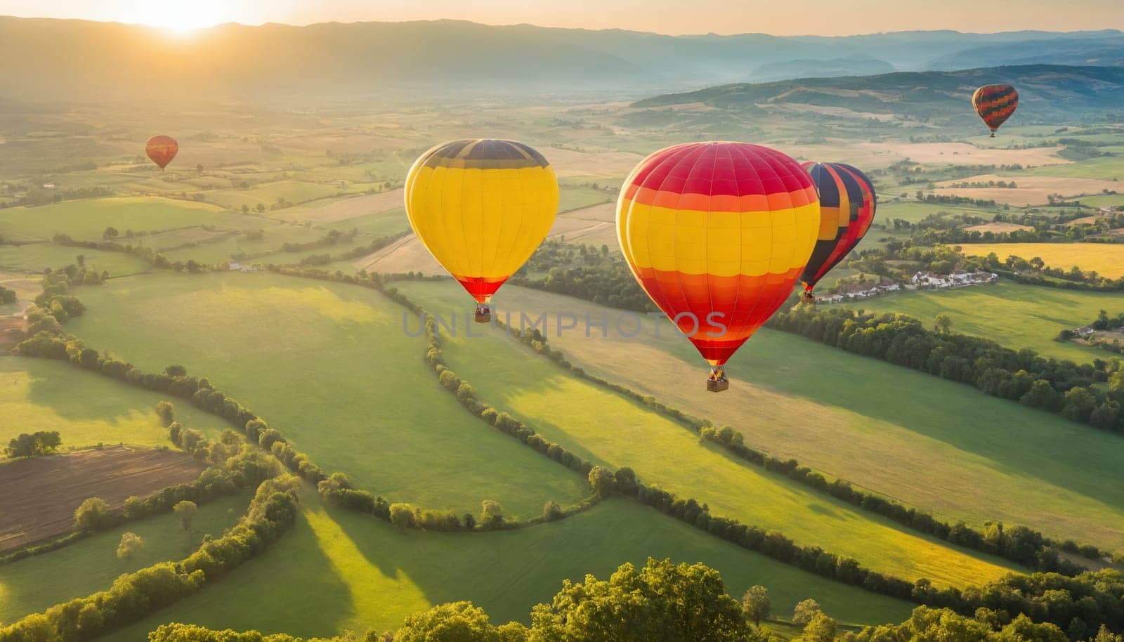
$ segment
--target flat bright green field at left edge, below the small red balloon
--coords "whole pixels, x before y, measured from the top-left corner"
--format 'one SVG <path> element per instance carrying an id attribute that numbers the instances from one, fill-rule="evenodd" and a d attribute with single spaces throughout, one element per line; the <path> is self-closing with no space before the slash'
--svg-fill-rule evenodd
<path id="1" fill-rule="evenodd" d="M 0 234 L 19 233 L 37 238 L 51 238 L 65 233 L 73 238 L 101 238 L 112 226 L 125 235 L 126 229 L 151 232 L 172 227 L 214 224 L 227 218 L 214 205 L 156 197 L 101 198 L 70 200 L 42 207 L 0 209 Z"/>

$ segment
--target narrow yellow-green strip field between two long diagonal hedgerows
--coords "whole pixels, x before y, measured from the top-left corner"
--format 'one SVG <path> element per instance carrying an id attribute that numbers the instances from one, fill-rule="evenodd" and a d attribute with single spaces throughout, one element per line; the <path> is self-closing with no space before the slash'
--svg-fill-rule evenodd
<path id="1" fill-rule="evenodd" d="M 417 293 L 424 307 L 447 309 L 447 299 L 427 296 L 436 292 L 433 288 L 404 291 Z M 709 504 L 715 515 L 774 528 L 801 544 L 850 555 L 910 580 L 926 577 L 941 585 L 966 586 L 1008 570 L 995 559 L 904 532 L 886 519 L 699 443 L 689 428 L 535 358 L 501 331 L 482 337 L 448 337 L 445 358 L 482 399 L 511 412 L 547 438 L 595 463 L 632 467 L 646 483 Z"/>

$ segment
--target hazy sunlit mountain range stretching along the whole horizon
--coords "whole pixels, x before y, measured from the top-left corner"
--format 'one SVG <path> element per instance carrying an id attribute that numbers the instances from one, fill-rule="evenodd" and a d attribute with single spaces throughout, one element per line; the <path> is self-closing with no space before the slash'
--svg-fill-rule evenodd
<path id="1" fill-rule="evenodd" d="M 0 99 L 464 91 L 638 97 L 736 81 L 977 67 L 1030 55 L 1044 63 L 1124 64 L 1124 34 L 664 36 L 437 20 L 230 24 L 179 36 L 116 22 L 0 17 Z"/>

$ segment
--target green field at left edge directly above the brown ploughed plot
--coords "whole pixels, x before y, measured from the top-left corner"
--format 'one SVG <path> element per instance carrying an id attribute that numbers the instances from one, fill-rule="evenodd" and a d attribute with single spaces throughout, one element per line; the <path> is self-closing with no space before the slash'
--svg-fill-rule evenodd
<path id="1" fill-rule="evenodd" d="M 123 442 L 166 446 L 167 429 L 154 409 L 162 399 L 169 397 L 69 363 L 0 356 L 0 444 L 20 433 L 58 431 L 64 450 Z M 218 434 L 232 427 L 187 401 L 173 404 L 189 428 Z"/>

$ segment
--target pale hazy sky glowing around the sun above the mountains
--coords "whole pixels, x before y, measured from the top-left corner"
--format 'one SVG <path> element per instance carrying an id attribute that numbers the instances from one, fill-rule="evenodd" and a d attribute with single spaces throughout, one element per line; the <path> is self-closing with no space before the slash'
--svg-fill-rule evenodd
<path id="1" fill-rule="evenodd" d="M 663 34 L 847 35 L 907 29 L 1124 28 L 1124 0 L 0 0 L 0 15 L 143 22 L 455 18 Z"/>

